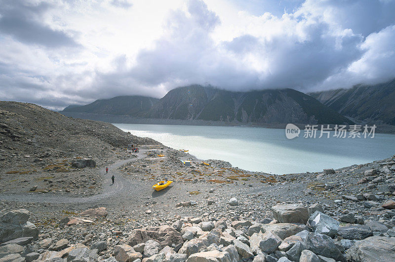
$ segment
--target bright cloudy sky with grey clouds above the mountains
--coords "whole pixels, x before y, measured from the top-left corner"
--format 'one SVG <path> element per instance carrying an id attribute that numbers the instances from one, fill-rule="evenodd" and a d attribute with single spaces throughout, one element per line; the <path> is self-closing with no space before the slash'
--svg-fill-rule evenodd
<path id="1" fill-rule="evenodd" d="M 0 99 L 51 109 L 395 77 L 395 0 L 0 0 Z"/>

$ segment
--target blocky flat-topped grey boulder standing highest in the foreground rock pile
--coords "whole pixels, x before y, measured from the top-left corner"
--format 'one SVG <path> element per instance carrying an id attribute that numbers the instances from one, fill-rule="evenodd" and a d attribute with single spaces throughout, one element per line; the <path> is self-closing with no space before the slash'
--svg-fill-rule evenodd
<path id="1" fill-rule="evenodd" d="M 272 207 L 273 216 L 279 223 L 306 224 L 309 212 L 302 204 L 283 204 Z"/>

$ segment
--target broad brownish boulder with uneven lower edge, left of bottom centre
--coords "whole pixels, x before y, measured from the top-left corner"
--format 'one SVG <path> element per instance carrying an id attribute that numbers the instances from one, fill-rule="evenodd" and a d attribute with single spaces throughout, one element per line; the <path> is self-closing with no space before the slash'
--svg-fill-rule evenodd
<path id="1" fill-rule="evenodd" d="M 172 244 L 178 245 L 184 243 L 180 232 L 173 227 L 164 225 L 160 227 L 134 229 L 127 239 L 127 244 L 134 246 L 139 243 L 145 243 L 147 240 L 157 241 L 162 248 L 165 246 L 171 246 Z"/>

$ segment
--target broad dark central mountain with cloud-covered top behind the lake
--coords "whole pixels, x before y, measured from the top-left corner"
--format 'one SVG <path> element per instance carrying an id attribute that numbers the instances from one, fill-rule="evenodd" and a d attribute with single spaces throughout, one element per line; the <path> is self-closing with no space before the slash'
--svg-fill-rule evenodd
<path id="1" fill-rule="evenodd" d="M 199 85 L 169 91 L 146 117 L 268 124 L 352 123 L 315 98 L 292 89 L 230 92 Z"/>

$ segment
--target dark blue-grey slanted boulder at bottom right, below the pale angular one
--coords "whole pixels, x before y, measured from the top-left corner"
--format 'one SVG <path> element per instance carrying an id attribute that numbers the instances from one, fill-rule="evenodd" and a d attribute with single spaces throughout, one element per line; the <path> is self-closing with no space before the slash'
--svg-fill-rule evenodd
<path id="1" fill-rule="evenodd" d="M 336 261 L 345 261 L 332 238 L 327 235 L 310 232 L 306 237 L 305 245 L 306 249 L 313 251 L 316 255 L 332 258 Z"/>

